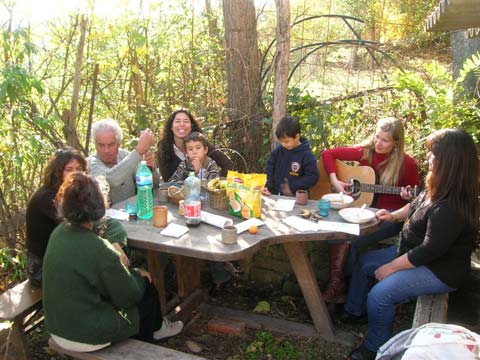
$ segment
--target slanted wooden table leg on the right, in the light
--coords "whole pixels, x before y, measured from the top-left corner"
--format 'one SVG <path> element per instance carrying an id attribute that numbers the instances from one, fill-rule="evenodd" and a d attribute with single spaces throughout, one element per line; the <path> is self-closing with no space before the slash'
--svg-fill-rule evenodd
<path id="1" fill-rule="evenodd" d="M 303 297 L 307 303 L 315 328 L 321 337 L 332 340 L 334 337 L 332 320 L 323 301 L 322 293 L 318 288 L 312 265 L 305 255 L 303 243 L 289 242 L 284 243 L 283 246 L 302 289 Z"/>

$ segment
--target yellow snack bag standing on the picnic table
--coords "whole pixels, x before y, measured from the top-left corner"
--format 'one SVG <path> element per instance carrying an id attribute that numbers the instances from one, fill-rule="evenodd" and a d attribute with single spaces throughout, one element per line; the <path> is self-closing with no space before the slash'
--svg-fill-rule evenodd
<path id="1" fill-rule="evenodd" d="M 250 219 L 262 217 L 262 188 L 266 174 L 242 174 L 229 170 L 227 173 L 228 212 Z"/>

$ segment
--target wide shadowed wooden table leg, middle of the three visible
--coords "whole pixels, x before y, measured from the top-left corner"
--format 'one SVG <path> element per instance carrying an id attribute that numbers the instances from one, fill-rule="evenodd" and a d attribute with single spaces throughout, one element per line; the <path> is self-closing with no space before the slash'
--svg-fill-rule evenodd
<path id="1" fill-rule="evenodd" d="M 198 259 L 175 255 L 175 272 L 177 273 L 178 297 L 185 299 L 200 288 L 200 265 Z"/>

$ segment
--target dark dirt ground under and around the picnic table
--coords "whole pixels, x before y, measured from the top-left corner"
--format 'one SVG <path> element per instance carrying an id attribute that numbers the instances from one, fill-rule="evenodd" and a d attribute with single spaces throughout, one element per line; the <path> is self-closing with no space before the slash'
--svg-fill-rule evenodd
<path id="1" fill-rule="evenodd" d="M 237 310 L 252 311 L 259 301 L 271 305 L 270 316 L 311 324 L 303 298 L 285 296 L 271 287 L 259 287 L 252 283 L 231 281 L 224 289 L 212 292 L 210 304 Z M 480 269 L 472 272 L 464 289 L 453 293 L 449 301 L 449 323 L 458 324 L 480 333 Z M 415 302 L 401 304 L 397 308 L 394 332 L 410 328 Z M 210 318 L 194 314 L 194 321 L 187 324 L 176 337 L 162 340 L 159 345 L 191 353 L 187 342 L 193 341 L 201 347 L 198 354 L 212 360 L 254 359 L 345 359 L 355 344 L 365 336 L 366 325 L 349 325 L 335 322 L 336 331 L 350 334 L 354 344 L 346 346 L 317 338 L 296 338 L 247 329 L 244 336 L 210 333 L 207 324 Z M 273 335 L 273 336 L 272 336 Z M 43 326 L 28 335 L 34 359 L 62 359 L 47 347 L 48 335 Z"/>

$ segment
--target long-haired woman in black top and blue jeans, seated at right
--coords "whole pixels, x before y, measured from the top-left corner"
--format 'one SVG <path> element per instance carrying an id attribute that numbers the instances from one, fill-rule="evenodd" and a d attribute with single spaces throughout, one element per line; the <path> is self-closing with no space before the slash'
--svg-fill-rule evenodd
<path id="1" fill-rule="evenodd" d="M 468 278 L 480 215 L 477 150 L 458 129 L 434 132 L 427 149 L 426 189 L 399 210 L 377 212 L 384 221 L 405 220 L 400 249 L 368 252 L 353 271 L 344 320 L 367 315 L 368 334 L 350 359 L 375 358 L 392 334 L 397 304 L 454 291 Z"/>

